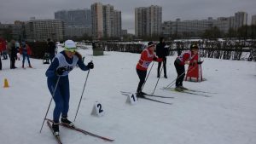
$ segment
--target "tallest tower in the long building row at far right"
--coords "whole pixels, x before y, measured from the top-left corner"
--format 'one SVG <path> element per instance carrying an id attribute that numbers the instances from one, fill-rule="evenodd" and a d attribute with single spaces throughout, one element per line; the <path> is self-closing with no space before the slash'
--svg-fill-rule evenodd
<path id="1" fill-rule="evenodd" d="M 247 13 L 246 12 L 237 12 L 235 14 L 235 29 L 247 25 Z"/>

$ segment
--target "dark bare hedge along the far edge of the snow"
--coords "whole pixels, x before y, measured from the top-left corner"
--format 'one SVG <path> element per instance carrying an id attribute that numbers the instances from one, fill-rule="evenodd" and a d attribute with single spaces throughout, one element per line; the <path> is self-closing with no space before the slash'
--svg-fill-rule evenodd
<path id="1" fill-rule="evenodd" d="M 184 50 L 189 50 L 191 43 L 198 43 L 201 57 L 242 60 L 242 53 L 247 52 L 246 60 L 256 60 L 256 41 L 199 41 L 199 42 L 166 42 L 169 55 L 180 55 Z M 96 48 L 105 51 L 119 51 L 141 53 L 145 48 L 143 43 L 97 43 Z"/>

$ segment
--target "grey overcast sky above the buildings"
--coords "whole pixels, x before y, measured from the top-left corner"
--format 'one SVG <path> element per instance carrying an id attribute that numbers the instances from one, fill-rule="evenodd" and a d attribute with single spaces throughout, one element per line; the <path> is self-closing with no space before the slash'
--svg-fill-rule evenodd
<path id="1" fill-rule="evenodd" d="M 159 5 L 163 21 L 205 20 L 228 17 L 238 11 L 248 14 L 248 22 L 256 14 L 256 0 L 0 0 L 0 22 L 15 20 L 54 19 L 54 13 L 62 9 L 90 9 L 92 3 L 111 4 L 122 12 L 122 28 L 134 33 L 134 9 Z"/>

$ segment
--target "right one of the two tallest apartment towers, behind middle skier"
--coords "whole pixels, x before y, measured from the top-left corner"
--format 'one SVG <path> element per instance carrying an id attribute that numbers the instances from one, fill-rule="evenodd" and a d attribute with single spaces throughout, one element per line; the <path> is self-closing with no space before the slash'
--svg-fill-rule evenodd
<path id="1" fill-rule="evenodd" d="M 136 37 L 160 35 L 162 29 L 162 7 L 151 5 L 135 9 Z"/>

